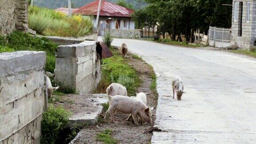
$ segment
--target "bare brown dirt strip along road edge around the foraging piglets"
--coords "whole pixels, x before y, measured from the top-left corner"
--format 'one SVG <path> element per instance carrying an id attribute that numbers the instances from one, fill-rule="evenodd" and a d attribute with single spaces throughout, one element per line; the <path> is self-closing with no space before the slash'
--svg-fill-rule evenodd
<path id="1" fill-rule="evenodd" d="M 157 105 L 157 96 L 150 89 L 150 85 L 152 83 L 151 75 L 153 73 L 150 65 L 146 64 L 143 60 L 138 57 L 133 57 L 132 55 L 126 56 L 125 60 L 128 62 L 130 66 L 136 69 L 137 74 L 139 75 L 142 83 L 140 87 L 137 89 L 137 92 L 144 92 L 147 95 L 148 107 L 155 107 Z M 104 113 L 103 113 L 104 114 Z M 148 129 L 152 128 L 154 125 L 154 121 L 156 119 L 156 109 L 152 112 L 152 123 L 140 123 L 139 125 L 135 125 L 134 122 L 125 121 L 128 117 L 128 114 L 122 114 L 116 112 L 114 118 L 115 123 L 110 123 L 110 119 L 108 118 L 106 121 L 100 121 L 96 126 L 89 126 L 83 128 L 80 131 L 79 136 L 77 136 L 76 144 L 101 144 L 103 142 L 99 142 L 96 140 L 96 134 L 104 131 L 105 129 L 111 129 L 112 137 L 116 139 L 117 143 L 121 144 L 148 144 L 151 142 L 152 133 L 144 133 Z M 101 116 L 101 118 L 103 115 Z"/>

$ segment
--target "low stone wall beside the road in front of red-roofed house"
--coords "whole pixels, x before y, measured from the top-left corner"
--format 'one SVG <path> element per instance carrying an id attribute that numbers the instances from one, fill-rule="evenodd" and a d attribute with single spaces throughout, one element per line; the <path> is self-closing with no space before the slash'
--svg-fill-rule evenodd
<path id="1" fill-rule="evenodd" d="M 136 29 L 110 29 L 109 32 L 117 38 L 140 38 L 140 31 Z"/>

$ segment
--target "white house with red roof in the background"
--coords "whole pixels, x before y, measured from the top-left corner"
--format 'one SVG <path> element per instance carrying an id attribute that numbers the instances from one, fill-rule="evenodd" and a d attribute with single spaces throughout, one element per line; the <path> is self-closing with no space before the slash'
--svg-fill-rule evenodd
<path id="1" fill-rule="evenodd" d="M 93 16 L 94 27 L 96 27 L 96 16 L 99 0 L 93 1 L 73 11 L 73 14 Z M 101 1 L 99 24 L 110 24 L 111 29 L 134 29 L 135 22 L 131 19 L 132 9 L 120 5 Z"/>

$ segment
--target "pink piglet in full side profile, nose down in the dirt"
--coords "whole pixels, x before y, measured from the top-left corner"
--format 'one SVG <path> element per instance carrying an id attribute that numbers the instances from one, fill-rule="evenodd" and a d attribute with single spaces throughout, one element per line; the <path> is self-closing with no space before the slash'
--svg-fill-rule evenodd
<path id="1" fill-rule="evenodd" d="M 134 123 L 138 125 L 138 117 L 140 117 L 145 122 L 151 122 L 150 109 L 140 100 L 128 96 L 108 96 L 109 107 L 106 112 L 104 119 L 110 113 L 111 122 L 114 122 L 114 114 L 116 110 L 123 113 L 131 113 Z"/>

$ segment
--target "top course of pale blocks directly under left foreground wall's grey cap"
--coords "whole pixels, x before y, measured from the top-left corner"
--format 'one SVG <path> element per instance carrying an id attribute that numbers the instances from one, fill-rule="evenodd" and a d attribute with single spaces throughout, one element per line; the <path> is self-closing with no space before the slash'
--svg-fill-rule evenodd
<path id="1" fill-rule="evenodd" d="M 44 85 L 44 71 L 22 72 L 12 76 L 0 77 L 0 108 L 19 100 Z"/>

